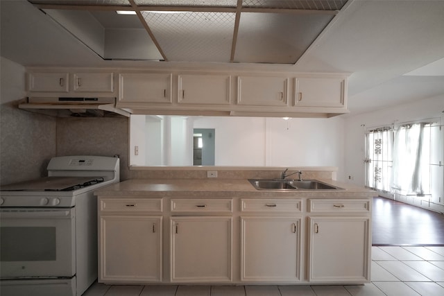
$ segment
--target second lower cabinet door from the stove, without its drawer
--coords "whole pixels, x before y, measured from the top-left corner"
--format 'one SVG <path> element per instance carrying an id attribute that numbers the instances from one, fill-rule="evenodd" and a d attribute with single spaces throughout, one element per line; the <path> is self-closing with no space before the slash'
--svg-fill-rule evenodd
<path id="1" fill-rule="evenodd" d="M 232 218 L 171 218 L 171 281 L 232 281 Z"/>

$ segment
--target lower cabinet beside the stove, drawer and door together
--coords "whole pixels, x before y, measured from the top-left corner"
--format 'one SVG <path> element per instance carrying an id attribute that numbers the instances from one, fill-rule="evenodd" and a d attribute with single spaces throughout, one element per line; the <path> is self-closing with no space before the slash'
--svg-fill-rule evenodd
<path id="1" fill-rule="evenodd" d="M 162 281 L 162 199 L 99 197 L 99 282 Z"/>

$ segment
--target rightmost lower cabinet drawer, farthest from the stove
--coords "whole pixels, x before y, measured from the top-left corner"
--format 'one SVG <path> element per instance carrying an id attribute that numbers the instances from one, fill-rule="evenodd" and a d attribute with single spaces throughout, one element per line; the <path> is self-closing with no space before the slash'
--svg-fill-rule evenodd
<path id="1" fill-rule="evenodd" d="M 366 199 L 353 199 L 353 200 L 327 200 L 316 199 L 309 200 L 308 211 L 312 213 L 325 213 L 325 212 L 368 212 L 370 211 L 370 200 Z"/>

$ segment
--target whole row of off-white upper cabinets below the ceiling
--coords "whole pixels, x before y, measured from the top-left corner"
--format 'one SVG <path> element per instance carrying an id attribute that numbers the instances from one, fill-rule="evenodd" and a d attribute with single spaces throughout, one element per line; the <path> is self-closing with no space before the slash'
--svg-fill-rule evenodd
<path id="1" fill-rule="evenodd" d="M 30 97 L 112 97 L 117 98 L 115 107 L 131 114 L 331 117 L 348 112 L 344 73 L 242 68 L 27 71 Z"/>

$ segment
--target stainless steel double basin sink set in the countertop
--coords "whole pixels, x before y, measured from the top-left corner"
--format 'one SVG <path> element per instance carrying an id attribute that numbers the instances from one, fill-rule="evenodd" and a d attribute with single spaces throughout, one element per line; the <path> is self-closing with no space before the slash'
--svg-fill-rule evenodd
<path id="1" fill-rule="evenodd" d="M 318 180 L 290 179 L 248 179 L 257 190 L 299 191 L 299 190 L 338 190 L 342 189 Z"/>

